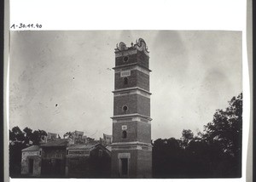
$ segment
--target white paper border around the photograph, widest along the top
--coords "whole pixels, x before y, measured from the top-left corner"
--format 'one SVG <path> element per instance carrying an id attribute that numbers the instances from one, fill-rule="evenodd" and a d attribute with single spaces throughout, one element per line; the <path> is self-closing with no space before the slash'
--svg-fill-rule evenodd
<path id="1" fill-rule="evenodd" d="M 30 30 L 231 30 L 242 31 L 243 149 L 242 178 L 245 181 L 250 121 L 247 63 L 246 1 L 242 0 L 10 0 L 12 24 L 41 24 Z M 26 31 L 29 29 L 15 30 Z M 8 63 L 7 63 L 8 64 Z M 9 86 L 9 83 L 7 82 Z M 5 89 L 9 98 L 9 88 Z M 9 119 L 9 102 L 5 110 Z M 6 118 L 6 117 L 5 117 Z M 9 121 L 7 122 L 9 123 Z M 84 179 L 11 179 L 10 181 L 82 181 Z M 86 179 L 91 181 L 96 179 Z M 114 179 L 109 179 L 114 180 Z M 118 180 L 118 179 L 117 179 Z M 135 179 L 137 180 L 137 179 Z M 180 181 L 181 179 L 166 179 Z M 182 179 L 182 181 L 216 179 Z"/>

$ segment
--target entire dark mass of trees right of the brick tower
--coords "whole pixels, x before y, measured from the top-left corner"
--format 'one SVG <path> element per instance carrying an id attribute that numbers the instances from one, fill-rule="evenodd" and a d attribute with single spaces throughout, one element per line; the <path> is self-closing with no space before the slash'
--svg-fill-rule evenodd
<path id="1" fill-rule="evenodd" d="M 181 139 L 156 139 L 154 178 L 241 177 L 242 94 L 217 110 L 212 122 L 196 136 L 183 130 Z"/>

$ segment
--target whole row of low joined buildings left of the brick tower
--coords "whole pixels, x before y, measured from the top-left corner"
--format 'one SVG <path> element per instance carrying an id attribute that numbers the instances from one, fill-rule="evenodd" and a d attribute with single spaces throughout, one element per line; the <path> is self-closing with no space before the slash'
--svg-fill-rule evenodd
<path id="1" fill-rule="evenodd" d="M 32 177 L 109 178 L 109 138 L 89 140 L 84 132 L 70 133 L 67 139 L 49 133 L 40 145 L 22 150 L 21 174 Z M 107 139 L 106 138 L 106 139 Z M 108 144 L 108 145 L 106 145 Z"/>

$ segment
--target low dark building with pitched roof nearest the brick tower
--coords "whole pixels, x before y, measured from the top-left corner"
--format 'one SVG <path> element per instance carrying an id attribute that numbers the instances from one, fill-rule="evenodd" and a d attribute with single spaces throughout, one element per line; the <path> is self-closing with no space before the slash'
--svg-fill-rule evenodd
<path id="1" fill-rule="evenodd" d="M 66 174 L 75 178 L 109 178 L 110 151 L 100 143 L 67 147 Z"/>

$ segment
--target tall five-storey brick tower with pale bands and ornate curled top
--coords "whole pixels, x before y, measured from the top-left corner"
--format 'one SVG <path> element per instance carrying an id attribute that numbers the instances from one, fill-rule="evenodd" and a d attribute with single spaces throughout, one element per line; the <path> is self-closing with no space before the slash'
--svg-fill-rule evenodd
<path id="1" fill-rule="evenodd" d="M 115 48 L 113 91 L 113 178 L 151 178 L 152 145 L 148 48 L 139 38 Z"/>

